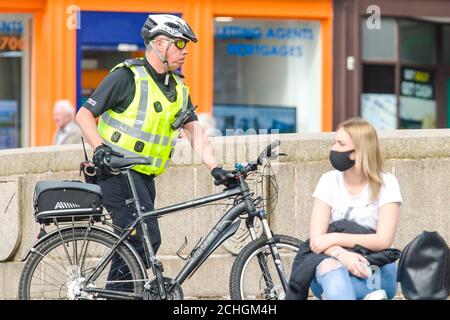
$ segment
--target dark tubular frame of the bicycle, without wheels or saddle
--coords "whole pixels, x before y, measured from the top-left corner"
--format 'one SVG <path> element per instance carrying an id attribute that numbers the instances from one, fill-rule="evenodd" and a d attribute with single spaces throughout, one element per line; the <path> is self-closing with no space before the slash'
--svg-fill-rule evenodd
<path id="1" fill-rule="evenodd" d="M 172 280 L 172 283 L 170 284 L 168 291 L 170 292 L 176 284 L 182 285 L 183 282 L 191 276 L 199 267 L 200 265 L 211 255 L 212 252 L 214 252 L 215 249 L 217 249 L 220 244 L 222 244 L 226 239 L 231 237 L 239 228 L 240 221 L 236 221 L 236 218 L 243 214 L 248 213 L 249 218 L 247 220 L 247 228 L 253 227 L 253 219 L 255 216 L 258 215 L 258 212 L 256 211 L 254 200 L 252 198 L 252 194 L 249 191 L 248 185 L 245 181 L 245 178 L 241 176 L 239 178 L 240 180 L 240 186 L 236 187 L 234 189 L 225 190 L 220 193 L 182 202 L 179 204 L 171 205 L 168 207 L 155 209 L 152 211 L 143 212 L 141 210 L 141 205 L 139 201 L 139 197 L 135 188 L 135 184 L 133 181 L 133 178 L 129 172 L 130 169 L 127 169 L 125 172 L 121 172 L 121 174 L 124 174 L 128 178 L 128 183 L 131 189 L 131 193 L 133 196 L 133 199 L 130 200 L 134 202 L 138 218 L 125 230 L 124 233 L 120 236 L 120 239 L 117 241 L 117 243 L 111 248 L 111 250 L 102 258 L 100 263 L 97 265 L 97 267 L 94 269 L 94 271 L 86 277 L 85 281 L 88 283 L 92 279 L 95 279 L 106 267 L 108 262 L 112 259 L 112 256 L 115 252 L 115 249 L 123 242 L 125 239 L 130 236 L 130 234 L 133 232 L 133 230 L 139 226 L 142 230 L 142 238 L 143 238 L 143 244 L 144 244 L 144 250 L 146 252 L 146 259 L 147 259 L 147 265 L 150 265 L 152 267 L 153 273 L 156 276 L 156 279 L 158 281 L 158 288 L 161 299 L 165 299 L 167 295 L 167 290 L 164 285 L 164 279 L 162 276 L 162 265 L 161 263 L 156 259 L 156 255 L 153 249 L 153 246 L 151 244 L 151 237 L 147 230 L 147 225 L 144 223 L 145 220 L 149 218 L 160 218 L 165 215 L 168 215 L 170 213 L 182 211 L 185 209 L 195 208 L 201 205 L 209 204 L 212 202 L 216 202 L 218 200 L 227 199 L 233 196 L 241 196 L 241 201 L 239 201 L 237 204 L 235 204 L 233 207 L 231 207 L 223 216 L 222 218 L 216 223 L 216 225 L 212 228 L 212 230 L 208 233 L 208 235 L 205 237 L 205 239 L 198 244 L 190 253 L 189 258 L 187 262 L 184 264 L 181 271 L 178 273 L 178 275 L 175 277 L 175 279 Z M 234 223 L 233 223 L 234 222 Z M 270 229 L 264 228 L 265 232 L 270 232 Z M 270 234 L 271 236 L 271 234 Z M 252 234 L 252 238 L 254 237 L 254 233 Z M 96 289 L 96 288 L 86 288 L 86 291 L 93 292 L 93 293 L 99 293 L 105 296 L 111 296 L 111 297 L 130 297 L 133 298 L 136 295 L 132 293 L 119 293 L 104 289 Z"/>

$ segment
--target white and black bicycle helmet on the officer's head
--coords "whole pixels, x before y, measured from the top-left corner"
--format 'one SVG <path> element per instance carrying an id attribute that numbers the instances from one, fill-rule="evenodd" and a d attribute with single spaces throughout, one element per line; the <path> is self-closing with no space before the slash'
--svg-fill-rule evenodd
<path id="1" fill-rule="evenodd" d="M 194 31 L 183 19 L 171 14 L 150 14 L 141 30 L 145 44 L 160 34 L 197 42 Z"/>

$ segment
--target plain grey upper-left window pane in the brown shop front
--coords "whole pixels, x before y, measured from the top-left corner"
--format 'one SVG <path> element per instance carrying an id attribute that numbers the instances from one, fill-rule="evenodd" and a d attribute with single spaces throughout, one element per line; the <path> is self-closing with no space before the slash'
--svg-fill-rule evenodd
<path id="1" fill-rule="evenodd" d="M 362 56 L 364 60 L 396 59 L 396 21 L 381 19 L 381 28 L 370 28 L 367 19 L 362 19 Z"/>

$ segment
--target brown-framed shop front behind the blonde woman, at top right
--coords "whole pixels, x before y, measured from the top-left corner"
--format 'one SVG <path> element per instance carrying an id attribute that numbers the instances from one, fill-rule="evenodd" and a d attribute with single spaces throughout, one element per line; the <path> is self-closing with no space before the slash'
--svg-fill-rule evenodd
<path id="1" fill-rule="evenodd" d="M 378 129 L 450 127 L 450 2 L 334 8 L 334 125 L 362 116 Z"/>

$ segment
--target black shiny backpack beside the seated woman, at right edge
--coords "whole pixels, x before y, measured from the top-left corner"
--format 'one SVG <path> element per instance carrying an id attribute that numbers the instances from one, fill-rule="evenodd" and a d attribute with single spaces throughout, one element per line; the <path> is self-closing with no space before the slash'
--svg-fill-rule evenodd
<path id="1" fill-rule="evenodd" d="M 450 292 L 450 256 L 437 232 L 424 231 L 402 251 L 397 281 L 406 299 L 445 300 Z"/>

